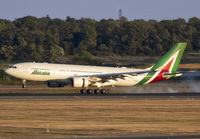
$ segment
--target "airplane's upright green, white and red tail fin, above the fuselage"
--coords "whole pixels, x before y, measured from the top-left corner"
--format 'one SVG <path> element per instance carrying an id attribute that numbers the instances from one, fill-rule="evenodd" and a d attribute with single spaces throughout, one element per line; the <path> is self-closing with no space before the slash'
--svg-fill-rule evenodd
<path id="1" fill-rule="evenodd" d="M 176 73 L 186 45 L 187 43 L 177 43 L 151 70 L 157 71 L 168 68 L 169 73 Z"/>

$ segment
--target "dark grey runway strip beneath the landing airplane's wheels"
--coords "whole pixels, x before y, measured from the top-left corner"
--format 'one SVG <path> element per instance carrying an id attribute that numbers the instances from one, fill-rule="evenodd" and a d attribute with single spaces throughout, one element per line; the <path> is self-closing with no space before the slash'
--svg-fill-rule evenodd
<path id="1" fill-rule="evenodd" d="M 0 94 L 0 99 L 200 99 L 200 93 Z"/>

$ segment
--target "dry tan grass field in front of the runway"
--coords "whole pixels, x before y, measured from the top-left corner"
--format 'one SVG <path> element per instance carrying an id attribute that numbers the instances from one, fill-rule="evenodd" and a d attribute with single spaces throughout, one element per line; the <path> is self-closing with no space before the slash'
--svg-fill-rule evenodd
<path id="1" fill-rule="evenodd" d="M 1 100 L 0 137 L 108 137 L 198 134 L 200 100 Z"/>

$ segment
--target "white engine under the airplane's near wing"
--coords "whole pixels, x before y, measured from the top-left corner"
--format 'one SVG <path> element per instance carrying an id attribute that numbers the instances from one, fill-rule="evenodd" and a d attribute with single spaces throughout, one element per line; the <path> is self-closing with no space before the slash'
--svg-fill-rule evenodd
<path id="1" fill-rule="evenodd" d="M 90 85 L 90 81 L 88 78 L 75 77 L 71 79 L 72 87 L 88 87 Z"/>

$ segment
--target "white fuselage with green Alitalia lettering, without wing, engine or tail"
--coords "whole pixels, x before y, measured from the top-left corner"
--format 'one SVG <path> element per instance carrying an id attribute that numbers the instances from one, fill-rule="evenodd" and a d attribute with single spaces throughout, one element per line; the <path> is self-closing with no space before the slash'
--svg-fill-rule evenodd
<path id="1" fill-rule="evenodd" d="M 143 69 L 144 70 L 144 69 Z M 141 69 L 132 68 L 118 68 L 118 67 L 103 67 L 103 66 L 82 66 L 82 65 L 69 65 L 69 64 L 50 64 L 50 63 L 19 63 L 14 64 L 5 72 L 13 77 L 22 80 L 31 81 L 56 81 L 64 84 L 70 84 L 70 78 L 101 74 L 113 74 L 123 72 L 135 72 Z M 125 77 L 124 79 L 110 80 L 110 82 L 102 84 L 103 86 L 133 86 L 147 73 L 140 74 L 139 76 Z M 95 85 L 97 86 L 97 85 Z"/>

